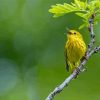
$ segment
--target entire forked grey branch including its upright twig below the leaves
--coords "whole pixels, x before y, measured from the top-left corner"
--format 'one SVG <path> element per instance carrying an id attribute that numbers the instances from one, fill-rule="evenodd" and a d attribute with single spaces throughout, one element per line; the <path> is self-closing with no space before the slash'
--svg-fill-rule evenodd
<path id="1" fill-rule="evenodd" d="M 92 15 L 92 17 L 89 19 L 89 32 L 90 32 L 90 43 L 88 44 L 88 49 L 87 49 L 87 53 L 85 55 L 85 58 L 81 61 L 80 65 L 74 70 L 74 72 L 64 80 L 63 83 L 61 83 L 59 86 L 57 86 L 53 92 L 51 92 L 48 97 L 46 98 L 46 100 L 53 100 L 53 98 L 55 97 L 55 95 L 57 95 L 58 93 L 60 93 L 64 87 L 68 86 L 69 83 L 77 77 L 77 75 L 79 75 L 81 72 L 85 71 L 85 64 L 87 63 L 87 61 L 89 60 L 89 58 L 100 51 L 100 46 L 94 47 L 94 42 L 95 42 L 95 34 L 93 31 L 93 22 L 94 22 L 94 17 L 95 14 Z M 93 49 L 92 49 L 93 48 Z"/>

